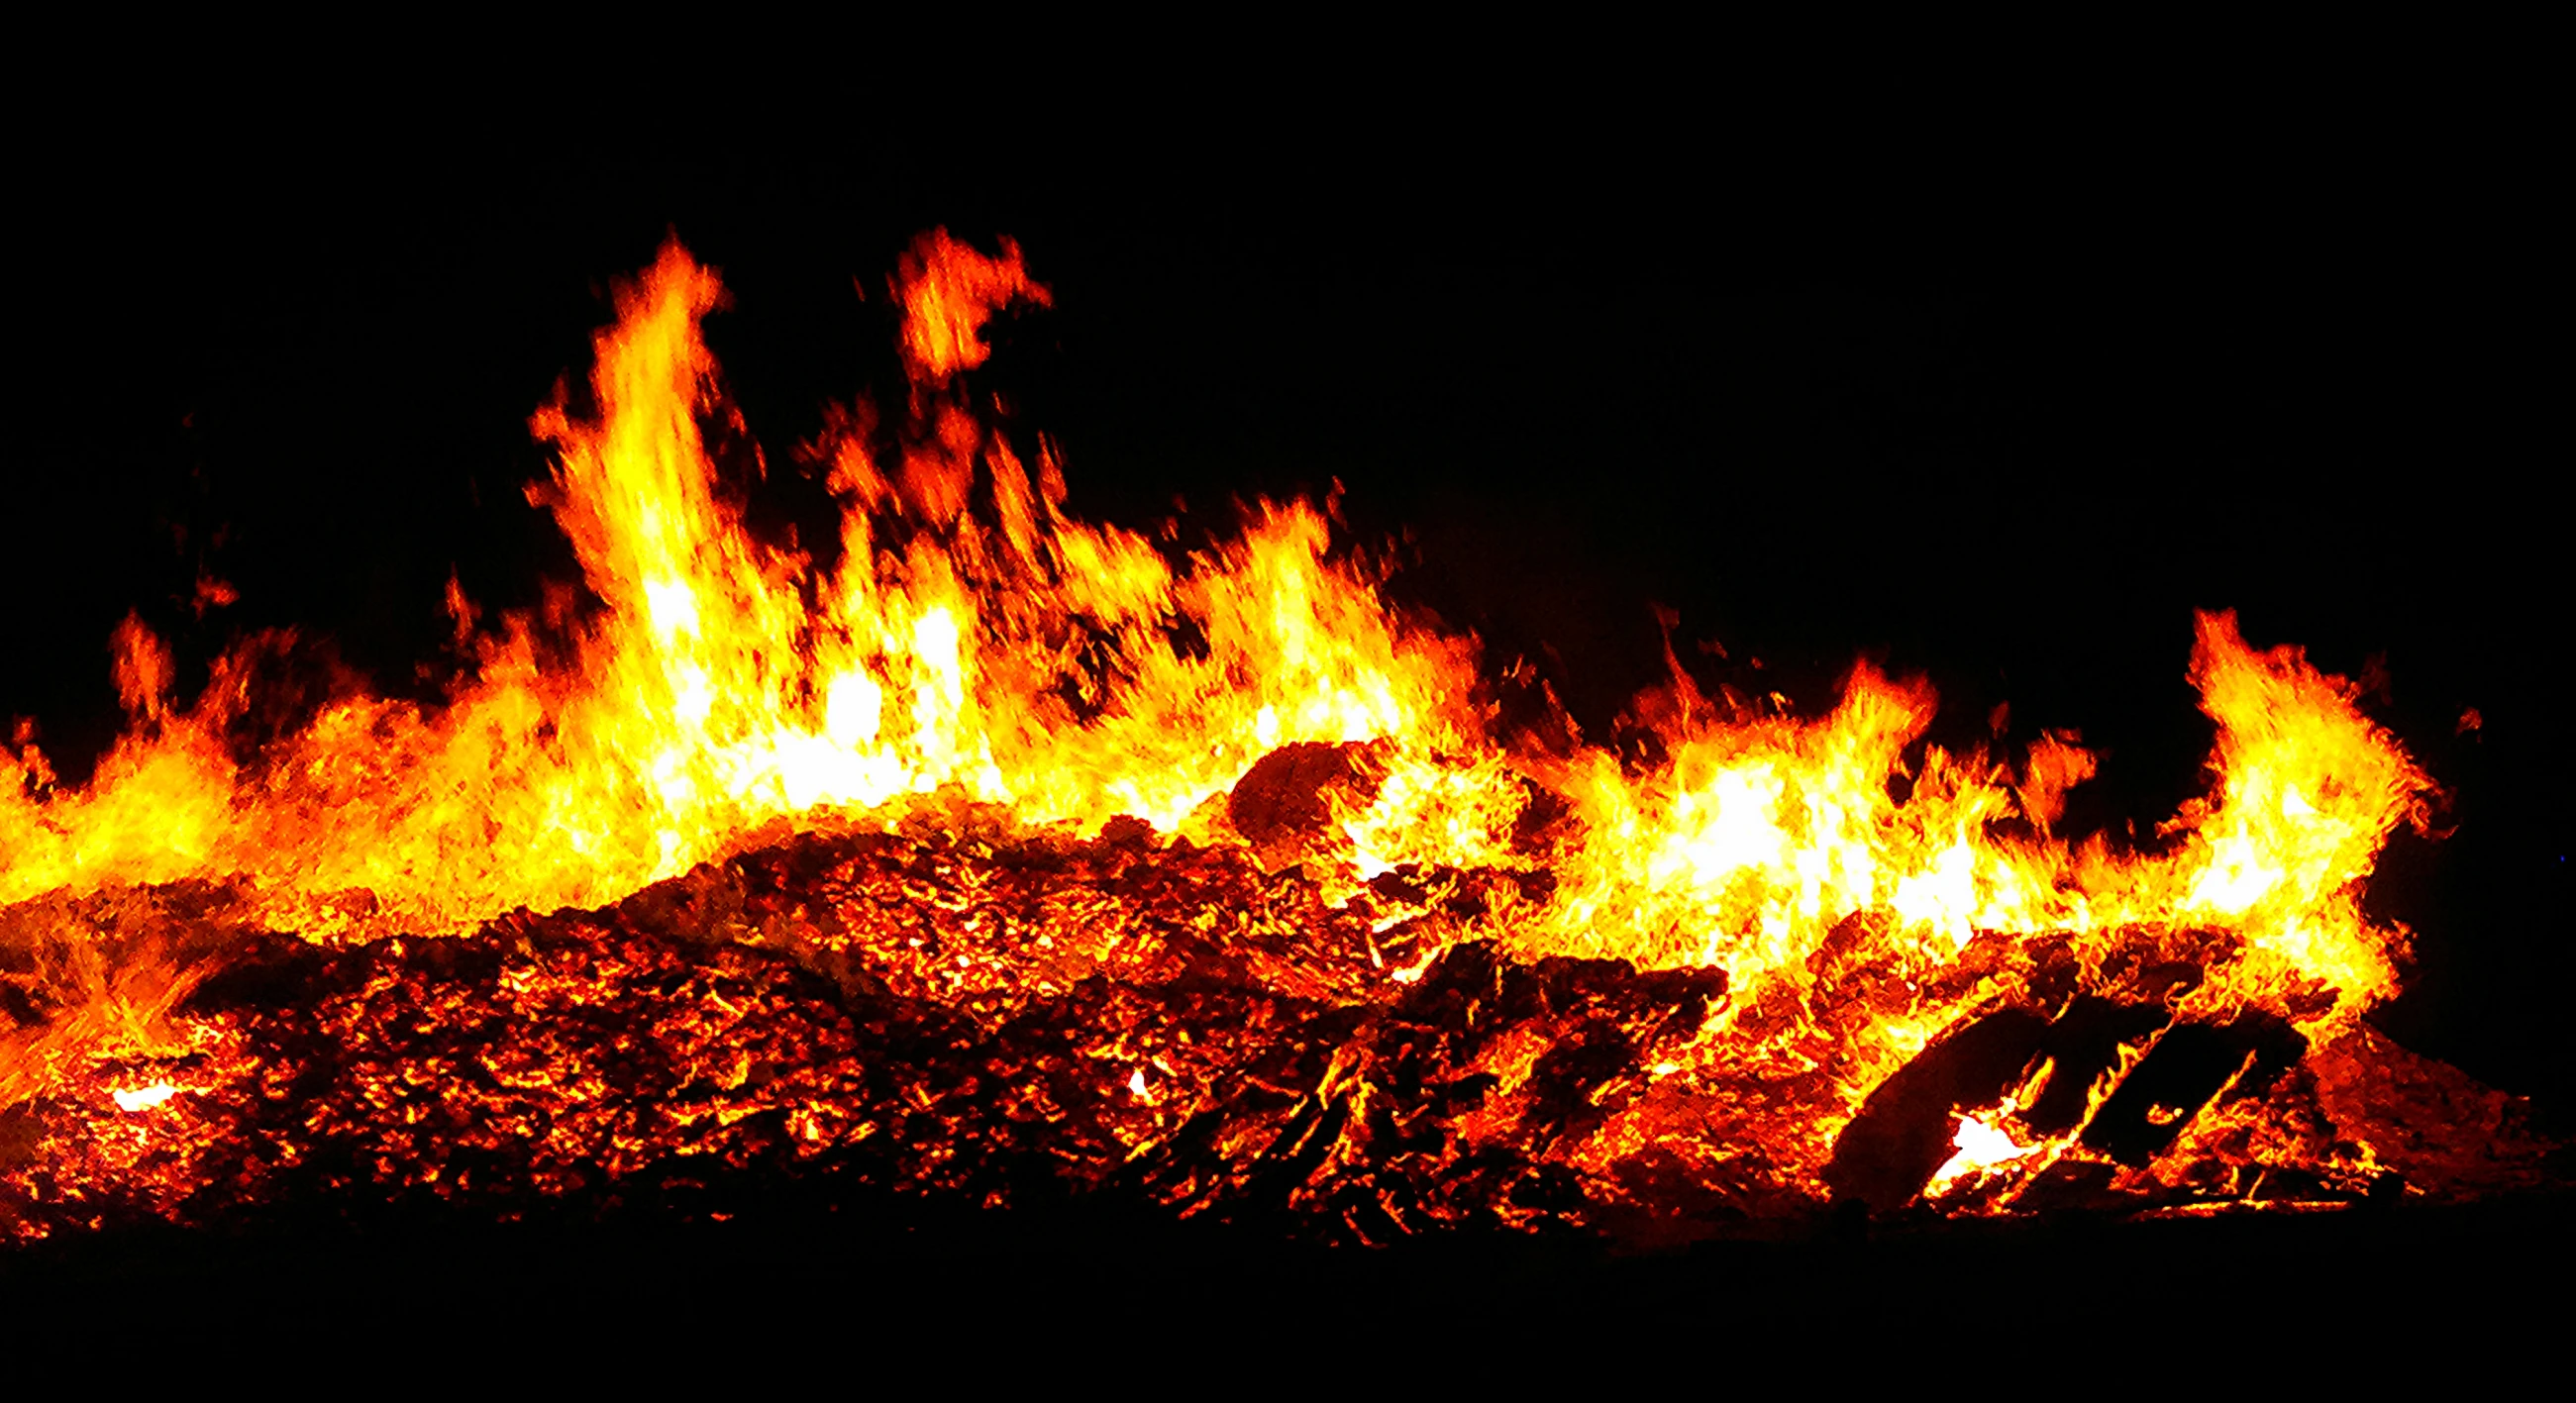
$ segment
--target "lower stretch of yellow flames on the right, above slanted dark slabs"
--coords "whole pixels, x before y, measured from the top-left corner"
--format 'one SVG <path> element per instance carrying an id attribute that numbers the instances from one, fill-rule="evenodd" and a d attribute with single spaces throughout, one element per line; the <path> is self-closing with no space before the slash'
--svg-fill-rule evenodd
<path id="1" fill-rule="evenodd" d="M 1852 911 L 1893 916 L 1893 940 L 1932 963 L 1976 932 L 2208 924 L 2251 945 L 2239 978 L 2275 991 L 2306 978 L 2334 991 L 2336 1017 L 2393 994 L 2401 932 L 2362 919 L 2360 880 L 2398 821 L 2421 821 L 2432 783 L 2347 682 L 2298 649 L 2254 651 L 2233 613 L 2200 615 L 2190 677 L 2218 721 L 2221 783 L 2166 824 L 2182 842 L 2164 855 L 2045 837 L 2094 770 L 2066 734 L 2043 736 L 2020 780 L 1929 747 L 1893 798 L 1935 698 L 1860 667 L 1819 721 L 1685 729 L 1649 775 L 1600 752 L 1569 767 L 1589 839 L 1558 868 L 1577 880 L 1543 927 L 1589 952 L 1803 981 Z M 1994 826 L 2014 816 L 2040 837 Z"/>

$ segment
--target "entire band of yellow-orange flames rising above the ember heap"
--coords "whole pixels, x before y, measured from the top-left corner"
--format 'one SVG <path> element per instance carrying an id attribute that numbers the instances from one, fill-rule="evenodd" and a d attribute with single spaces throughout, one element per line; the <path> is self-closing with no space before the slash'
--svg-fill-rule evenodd
<path id="1" fill-rule="evenodd" d="M 1329 795 L 1342 878 L 1546 865 L 1553 896 L 1492 911 L 1525 952 L 1718 963 L 1754 999 L 1806 986 L 1837 929 L 1935 971 L 1981 932 L 2164 922 L 2244 940 L 2195 999 L 2313 1027 L 2396 986 L 2403 932 L 2357 893 L 2429 783 L 2349 685 L 2251 649 L 2233 615 L 2200 618 L 2190 662 L 2218 785 L 2154 855 L 2050 837 L 2094 770 L 2074 736 L 2017 770 L 1919 749 L 1932 690 L 1870 667 L 1819 718 L 1698 698 L 1643 770 L 1520 754 L 1473 700 L 1473 641 L 1399 623 L 1314 505 L 1255 505 L 1185 559 L 1061 512 L 1054 448 L 1030 474 L 961 389 L 987 319 L 1046 301 L 1015 247 L 925 237 L 894 291 L 914 376 L 899 430 L 848 409 L 814 448 L 842 502 L 837 564 L 760 546 L 716 492 L 703 425 L 744 427 L 701 337 L 724 291 L 672 242 L 598 335 L 598 412 L 567 396 L 533 417 L 556 456 L 533 497 L 600 610 L 510 618 L 446 705 L 340 698 L 247 762 L 227 723 L 250 664 L 222 659 L 180 705 L 167 649 L 129 620 L 131 729 L 95 777 L 57 788 L 33 747 L 0 752 L 0 904 L 224 878 L 276 929 L 461 932 L 613 901 L 817 813 L 981 801 L 1030 826 L 1128 813 L 1224 837 L 1211 798 L 1280 744 L 1332 741 L 1368 747 L 1373 785 Z M 469 626 L 461 595 L 451 613 Z M 1546 842 L 1517 832 L 1540 788 L 1569 811 Z M 1875 1037 L 1901 1055 L 1960 1009 L 1886 1014 Z"/>

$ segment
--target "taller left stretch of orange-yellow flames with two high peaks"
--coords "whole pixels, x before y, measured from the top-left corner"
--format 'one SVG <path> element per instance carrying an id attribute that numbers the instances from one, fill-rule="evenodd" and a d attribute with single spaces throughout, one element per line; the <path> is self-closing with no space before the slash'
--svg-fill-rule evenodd
<path id="1" fill-rule="evenodd" d="M 925 237 L 896 293 L 922 432 L 891 479 L 858 427 L 829 445 L 837 569 L 762 551 L 719 502 L 701 422 L 732 409 L 698 322 L 724 293 L 670 245 L 598 337 L 598 417 L 556 402 L 533 420 L 559 463 L 531 497 L 605 605 L 569 664 L 515 618 L 446 708 L 345 698 L 242 765 L 224 726 L 247 659 L 178 708 L 167 649 L 129 620 L 116 677 L 137 726 L 95 780 L 49 793 L 41 754 L 5 759 L 0 904 L 232 875 L 281 929 L 461 932 L 611 901 L 819 808 L 945 790 L 1028 824 L 1131 813 L 1170 832 L 1283 741 L 1471 744 L 1468 649 L 1391 623 L 1327 559 L 1314 507 L 1262 505 L 1177 569 L 1056 510 L 1051 445 L 1033 484 L 951 384 L 997 309 L 1046 299 L 1015 250 Z"/>

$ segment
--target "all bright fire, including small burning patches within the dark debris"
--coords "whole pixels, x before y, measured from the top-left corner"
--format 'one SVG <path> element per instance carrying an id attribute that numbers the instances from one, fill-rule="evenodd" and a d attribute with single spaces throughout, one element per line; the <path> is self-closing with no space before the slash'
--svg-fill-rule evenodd
<path id="1" fill-rule="evenodd" d="M 1708 1146 L 1759 1143 L 1806 1192 L 1837 1174 L 1837 1135 L 1875 1125 L 1868 1107 L 1899 1068 L 1953 1055 L 2002 1012 L 2063 1025 L 2066 999 L 2097 996 L 2079 991 L 2130 989 L 2120 1007 L 2154 1012 L 2141 1027 L 2259 1025 L 2308 1048 L 2396 989 L 2406 932 L 2372 924 L 2360 888 L 2396 824 L 2421 821 L 2432 783 L 2352 685 L 2293 646 L 2254 649 L 2233 615 L 2202 615 L 2190 656 L 2218 777 L 2148 852 L 2053 832 L 2094 772 L 2079 736 L 2025 754 L 1924 747 L 1929 685 L 1868 664 L 1814 718 L 1713 700 L 1674 664 L 1641 705 L 1664 741 L 1654 765 L 1525 747 L 1494 731 L 1473 641 L 1399 620 L 1311 502 L 1255 505 L 1236 538 L 1193 553 L 1072 517 L 1056 445 L 971 391 L 984 327 L 1051 299 L 1015 245 L 984 255 L 927 234 L 891 293 L 904 404 L 835 409 L 804 445 L 829 463 L 837 548 L 765 546 L 719 492 L 708 432 L 750 438 L 701 340 L 726 293 L 672 242 L 618 291 L 587 396 L 556 394 L 531 422 L 554 451 L 531 499 L 572 541 L 595 610 L 567 590 L 477 633 L 451 590 L 477 667 L 443 705 L 343 695 L 258 754 L 227 726 L 268 644 L 183 700 L 167 646 L 126 620 L 116 685 L 131 726 L 95 777 L 57 785 L 23 736 L 0 752 L 0 911 L 214 883 L 240 901 L 224 916 L 240 929 L 348 947 L 608 906 L 796 832 L 999 824 L 1010 842 L 1213 844 L 1311 883 L 1327 911 L 1314 919 L 1358 922 L 1352 968 L 1386 999 L 1432 996 L 1445 952 L 1476 940 L 1522 963 L 1723 971 L 1723 999 L 1677 1040 L 1656 1035 L 1669 1045 L 1638 1104 L 1664 1120 L 1613 1117 L 1566 1161 L 1605 1171 L 1698 1125 Z M 987 929 L 930 945 L 974 950 Z M 1443 934 L 1381 950 L 1425 929 Z M 106 1007 L 106 945 L 80 955 L 90 937 L 64 940 L 64 960 L 90 960 L 64 999 Z M 2138 983 L 2148 947 L 2164 952 L 2151 968 L 2190 976 Z M 1077 973 L 1121 958 L 1082 922 L 1030 950 Z M 984 978 L 958 973 L 976 960 L 956 955 L 943 978 Z M 0 1092 L 23 1099 L 82 1055 L 191 1037 L 173 1022 L 185 981 L 165 983 L 139 1012 L 118 1004 L 131 1035 L 59 1017 L 0 1040 Z M 2076 1138 L 2146 1055 L 2136 1037 L 2115 1040 L 2115 1073 L 2063 1092 L 2076 1110 L 2056 1128 L 1963 1112 L 1929 1179 L 1891 1182 L 1940 1197 L 2112 1153 Z M 1546 1040 L 1512 1048 L 1494 1094 L 1520 1094 Z M 2004 1055 L 1996 1076 L 2038 1068 L 2045 1084 L 2066 1058 Z M 1128 1102 L 1188 1102 L 1185 1079 L 1126 1061 L 1108 1084 Z M 1747 1107 L 1777 1097 L 1723 1089 L 1793 1076 L 1803 1099 L 1772 1120 Z M 170 1097 L 167 1081 L 113 1092 L 129 1112 Z"/>

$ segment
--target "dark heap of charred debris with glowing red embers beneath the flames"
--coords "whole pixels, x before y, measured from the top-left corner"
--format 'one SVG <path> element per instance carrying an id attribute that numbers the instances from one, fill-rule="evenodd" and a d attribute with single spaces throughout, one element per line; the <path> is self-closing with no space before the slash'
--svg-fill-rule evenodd
<path id="1" fill-rule="evenodd" d="M 1273 855 L 1314 811 L 1280 801 L 1291 762 L 1231 806 Z M 1643 1246 L 1795 1233 L 1837 1200 L 2156 1215 L 2543 1179 L 2519 1102 L 2367 1027 L 2313 1045 L 2277 1017 L 2177 1022 L 2228 958 L 2213 932 L 2138 929 L 2092 965 L 2063 940 L 1981 940 L 1947 978 L 2012 994 L 1852 1104 L 1839 1022 L 1919 996 L 1865 940 L 1747 1007 L 1718 968 L 1512 955 L 1489 888 L 1525 873 L 1388 873 L 1327 901 L 1257 852 L 966 813 L 775 837 L 598 911 L 343 947 L 245 924 L 224 886 L 26 901 L 0 911 L 21 1053 L 0 1231 L 283 1205 L 724 1218 L 891 1192 Z M 77 965 L 124 981 L 90 1009 L 126 1027 L 46 1007 Z M 2058 1138 L 2045 1166 L 1971 1115 L 2032 1081 L 2017 1133 Z M 1963 1164 L 1978 1133 L 2007 1148 Z"/>

